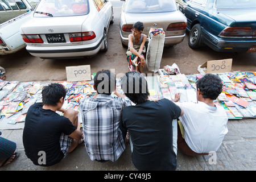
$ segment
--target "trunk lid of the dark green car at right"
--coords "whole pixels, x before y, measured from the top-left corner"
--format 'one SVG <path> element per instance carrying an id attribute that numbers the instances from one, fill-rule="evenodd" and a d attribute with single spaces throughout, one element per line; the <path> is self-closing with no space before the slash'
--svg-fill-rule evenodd
<path id="1" fill-rule="evenodd" d="M 256 29 L 256 10 L 218 10 L 218 13 L 234 20 L 229 26 Z"/>

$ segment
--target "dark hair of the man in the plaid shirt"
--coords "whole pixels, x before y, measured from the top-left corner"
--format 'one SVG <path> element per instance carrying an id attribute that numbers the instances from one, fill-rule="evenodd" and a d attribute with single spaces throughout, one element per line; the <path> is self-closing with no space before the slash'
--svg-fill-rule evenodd
<path id="1" fill-rule="evenodd" d="M 115 75 L 109 70 L 98 71 L 94 77 L 94 85 L 99 94 L 110 95 L 115 90 Z"/>

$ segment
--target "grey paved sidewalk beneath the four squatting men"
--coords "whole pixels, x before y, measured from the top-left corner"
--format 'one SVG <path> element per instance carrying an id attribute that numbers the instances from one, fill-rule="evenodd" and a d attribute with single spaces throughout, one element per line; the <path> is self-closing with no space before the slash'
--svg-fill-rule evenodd
<path id="1" fill-rule="evenodd" d="M 177 152 L 177 171 L 247 171 L 256 170 L 256 119 L 229 120 L 228 129 L 221 147 L 217 151 L 216 164 L 214 156 L 187 156 Z M 24 152 L 22 143 L 23 130 L 1 130 L 1 137 L 17 144 L 19 158 L 15 162 L 1 167 L 0 171 L 135 171 L 131 162 L 130 145 L 117 162 L 98 163 L 91 161 L 84 144 L 51 167 L 35 166 Z"/>

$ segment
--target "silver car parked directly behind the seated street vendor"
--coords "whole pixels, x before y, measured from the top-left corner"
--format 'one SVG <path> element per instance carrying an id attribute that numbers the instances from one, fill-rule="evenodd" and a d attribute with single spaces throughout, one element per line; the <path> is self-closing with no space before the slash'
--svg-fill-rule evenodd
<path id="1" fill-rule="evenodd" d="M 147 36 L 150 28 L 163 28 L 164 46 L 179 44 L 185 38 L 187 18 L 177 9 L 175 0 L 126 0 L 119 25 L 123 47 L 128 45 L 128 35 L 138 21 L 144 24 L 143 34 Z"/>

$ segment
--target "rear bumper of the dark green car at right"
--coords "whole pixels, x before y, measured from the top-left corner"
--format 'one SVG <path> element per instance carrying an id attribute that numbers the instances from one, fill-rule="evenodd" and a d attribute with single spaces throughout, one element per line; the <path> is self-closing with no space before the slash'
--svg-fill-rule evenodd
<path id="1" fill-rule="evenodd" d="M 222 39 L 206 31 L 202 31 L 202 41 L 217 52 L 246 52 L 250 47 L 256 46 L 256 40 Z"/>

